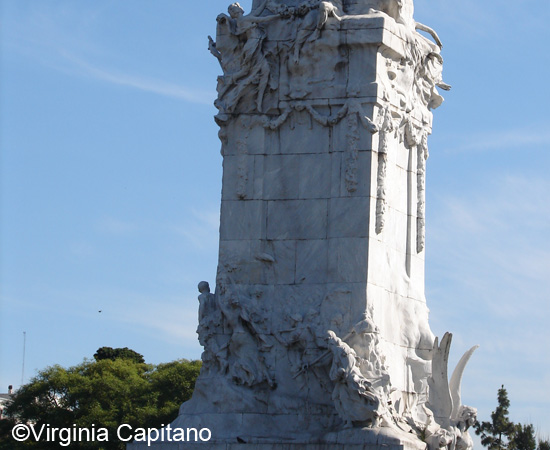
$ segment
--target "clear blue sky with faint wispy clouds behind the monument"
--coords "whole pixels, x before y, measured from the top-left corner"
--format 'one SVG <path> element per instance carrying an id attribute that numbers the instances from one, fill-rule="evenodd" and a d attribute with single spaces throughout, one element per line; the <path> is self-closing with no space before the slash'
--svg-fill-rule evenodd
<path id="1" fill-rule="evenodd" d="M 228 1 L 0 2 L 0 391 L 101 346 L 198 358 L 221 156 L 207 35 Z M 241 4 L 247 11 L 251 1 Z M 463 401 L 550 437 L 550 2 L 416 0 L 453 86 L 427 179 L 430 324 Z M 101 310 L 101 313 L 98 311 Z"/>

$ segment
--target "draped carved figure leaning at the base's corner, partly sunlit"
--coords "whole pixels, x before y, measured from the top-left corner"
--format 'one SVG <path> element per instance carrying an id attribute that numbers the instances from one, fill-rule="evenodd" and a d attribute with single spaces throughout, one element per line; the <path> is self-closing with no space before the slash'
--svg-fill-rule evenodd
<path id="1" fill-rule="evenodd" d="M 332 400 L 344 426 L 378 426 L 382 416 L 380 399 L 361 374 L 355 351 L 330 330 L 328 347 L 332 353 Z"/>

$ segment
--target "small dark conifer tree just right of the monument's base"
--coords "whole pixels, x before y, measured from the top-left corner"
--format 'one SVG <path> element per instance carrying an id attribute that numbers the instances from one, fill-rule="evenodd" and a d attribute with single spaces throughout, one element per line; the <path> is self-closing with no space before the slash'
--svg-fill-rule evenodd
<path id="1" fill-rule="evenodd" d="M 504 386 L 498 390 L 498 406 L 491 413 L 491 422 L 476 423 L 475 432 L 481 435 L 481 444 L 489 450 L 507 449 L 508 442 L 513 437 L 516 428 L 508 418 L 510 400 Z"/>

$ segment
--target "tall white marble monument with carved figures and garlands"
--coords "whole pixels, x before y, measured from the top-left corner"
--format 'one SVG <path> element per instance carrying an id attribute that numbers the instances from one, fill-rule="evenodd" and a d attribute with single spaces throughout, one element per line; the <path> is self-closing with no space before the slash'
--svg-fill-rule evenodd
<path id="1" fill-rule="evenodd" d="M 203 367 L 171 426 L 212 439 L 185 448 L 472 448 L 475 347 L 449 380 L 451 335 L 432 334 L 424 294 L 439 37 L 412 0 L 254 0 L 209 41 L 218 271 L 214 293 L 199 284 Z"/>

